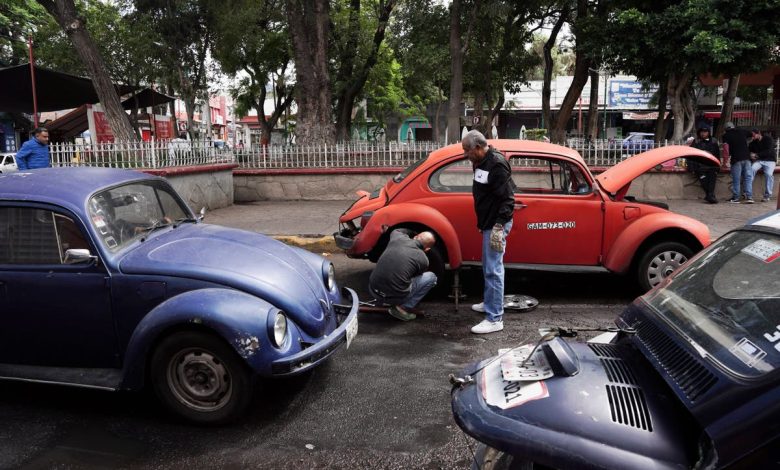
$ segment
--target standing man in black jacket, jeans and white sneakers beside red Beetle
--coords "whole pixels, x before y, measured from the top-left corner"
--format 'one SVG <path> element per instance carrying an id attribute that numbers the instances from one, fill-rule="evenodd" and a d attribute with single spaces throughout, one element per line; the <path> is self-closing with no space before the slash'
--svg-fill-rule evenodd
<path id="1" fill-rule="evenodd" d="M 471 193 L 477 229 L 482 232 L 482 273 L 485 278 L 482 302 L 471 307 L 484 312 L 485 319 L 471 328 L 471 332 L 493 333 L 504 329 L 504 252 L 506 237 L 512 230 L 515 205 L 512 168 L 498 150 L 488 146 L 479 131 L 468 132 L 461 145 L 474 170 Z"/>

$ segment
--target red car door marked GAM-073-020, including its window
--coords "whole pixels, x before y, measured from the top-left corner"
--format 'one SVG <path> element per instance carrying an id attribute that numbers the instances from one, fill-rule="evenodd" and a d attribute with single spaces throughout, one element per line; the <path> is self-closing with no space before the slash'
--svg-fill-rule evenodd
<path id="1" fill-rule="evenodd" d="M 511 155 L 515 190 L 507 264 L 600 264 L 604 214 L 579 164 L 554 156 Z"/>

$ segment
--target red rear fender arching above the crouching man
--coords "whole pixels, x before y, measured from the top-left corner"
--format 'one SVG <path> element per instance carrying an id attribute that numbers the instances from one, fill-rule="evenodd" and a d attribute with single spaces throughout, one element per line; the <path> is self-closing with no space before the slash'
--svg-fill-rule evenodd
<path id="1" fill-rule="evenodd" d="M 436 209 L 413 202 L 391 204 L 378 210 L 367 226 L 361 232 L 363 242 L 375 246 L 382 235 L 382 226 L 396 227 L 404 224 L 419 224 L 436 232 L 441 242 L 447 248 L 448 263 L 452 269 L 457 269 L 463 262 L 460 251 L 460 241 L 455 228 L 444 215 Z M 437 240 L 437 243 L 439 240 Z"/>

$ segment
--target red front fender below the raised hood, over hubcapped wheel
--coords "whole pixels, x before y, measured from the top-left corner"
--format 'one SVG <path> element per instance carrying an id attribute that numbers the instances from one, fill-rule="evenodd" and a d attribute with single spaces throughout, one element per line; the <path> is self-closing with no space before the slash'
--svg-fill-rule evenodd
<path id="1" fill-rule="evenodd" d="M 702 247 L 710 244 L 710 230 L 698 220 L 672 212 L 648 214 L 626 227 L 615 239 L 604 258 L 604 267 L 616 273 L 628 271 L 642 242 L 665 229 L 686 232 L 696 238 Z"/>

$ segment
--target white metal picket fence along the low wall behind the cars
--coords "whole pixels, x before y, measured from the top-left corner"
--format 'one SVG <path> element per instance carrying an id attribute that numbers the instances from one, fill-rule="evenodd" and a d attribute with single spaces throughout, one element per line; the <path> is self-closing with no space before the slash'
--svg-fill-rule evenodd
<path id="1" fill-rule="evenodd" d="M 672 142 L 569 139 L 590 167 L 613 166 L 626 158 Z M 322 146 L 268 146 L 251 149 L 217 148 L 211 142 L 134 142 L 126 144 L 52 144 L 54 166 L 170 168 L 236 163 L 243 169 L 404 168 L 441 147 L 436 142 L 345 143 Z M 780 147 L 776 149 L 780 151 Z M 667 166 L 674 166 L 670 162 Z"/>

